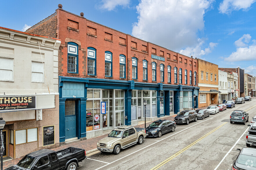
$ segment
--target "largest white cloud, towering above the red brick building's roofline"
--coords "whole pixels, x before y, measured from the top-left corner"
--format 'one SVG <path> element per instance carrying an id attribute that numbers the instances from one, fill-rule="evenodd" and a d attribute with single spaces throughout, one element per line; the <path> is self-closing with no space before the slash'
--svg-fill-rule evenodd
<path id="1" fill-rule="evenodd" d="M 199 43 L 197 33 L 204 28 L 203 17 L 212 2 L 141 0 L 136 7 L 138 22 L 133 25 L 132 35 L 174 51 L 192 47 Z"/>

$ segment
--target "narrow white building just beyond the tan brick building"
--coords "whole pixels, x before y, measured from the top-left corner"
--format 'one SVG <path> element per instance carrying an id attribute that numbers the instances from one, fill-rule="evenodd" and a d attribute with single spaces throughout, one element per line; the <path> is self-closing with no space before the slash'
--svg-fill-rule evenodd
<path id="1" fill-rule="evenodd" d="M 219 91 L 220 94 L 220 103 L 222 100 L 228 100 L 228 74 L 225 71 L 219 70 Z"/>

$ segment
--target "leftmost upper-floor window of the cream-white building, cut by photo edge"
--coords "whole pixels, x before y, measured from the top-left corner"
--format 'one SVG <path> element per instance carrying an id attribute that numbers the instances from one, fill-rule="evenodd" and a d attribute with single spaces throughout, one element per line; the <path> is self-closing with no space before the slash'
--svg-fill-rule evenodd
<path id="1" fill-rule="evenodd" d="M 13 81 L 13 59 L 0 58 L 0 81 Z"/>

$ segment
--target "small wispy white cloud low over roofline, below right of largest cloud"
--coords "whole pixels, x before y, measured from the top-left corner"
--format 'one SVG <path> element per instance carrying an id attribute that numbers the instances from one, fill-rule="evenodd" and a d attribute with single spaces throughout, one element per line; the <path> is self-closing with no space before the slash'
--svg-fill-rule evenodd
<path id="1" fill-rule="evenodd" d="M 194 57 L 201 57 L 203 55 L 207 55 L 212 52 L 214 47 L 218 45 L 218 43 L 209 43 L 209 46 L 205 48 L 204 50 L 202 49 L 204 44 L 204 41 L 200 38 L 198 38 L 198 43 L 196 47 L 186 47 L 184 50 L 180 50 L 180 53 L 185 55 L 185 56 L 194 56 Z"/>

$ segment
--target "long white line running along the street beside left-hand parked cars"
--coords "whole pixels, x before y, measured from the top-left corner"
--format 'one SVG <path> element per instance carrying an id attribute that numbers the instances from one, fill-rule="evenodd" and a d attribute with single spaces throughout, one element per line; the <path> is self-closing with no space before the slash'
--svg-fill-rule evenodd
<path id="1" fill-rule="evenodd" d="M 256 101 L 256 100 L 255 100 L 255 101 Z M 248 103 L 251 103 L 251 102 L 253 102 L 253 101 L 250 101 L 250 102 L 248 102 Z M 246 103 L 246 104 L 248 104 L 248 103 Z M 243 104 L 243 105 L 241 105 L 241 106 L 244 106 L 244 105 L 246 105 L 246 104 Z M 228 111 L 230 111 L 230 110 L 237 109 L 237 108 L 239 108 L 239 107 L 241 107 L 241 106 L 238 106 L 238 107 L 236 107 L 236 108 L 229 109 L 229 110 L 227 110 L 226 112 L 228 112 Z M 222 113 L 220 113 L 220 114 L 217 114 L 216 116 L 219 116 L 219 115 L 221 115 L 221 114 L 223 114 L 223 113 L 226 113 L 226 112 L 222 112 Z M 216 117 L 216 116 L 214 116 L 214 117 Z M 210 117 L 209 119 L 206 119 L 206 120 L 204 119 L 204 121 L 201 121 L 201 122 L 199 122 L 199 123 L 208 121 L 208 120 L 210 120 L 210 119 L 212 119 L 212 118 L 214 118 L 214 117 Z M 179 132 L 176 132 L 175 134 L 178 134 L 178 133 L 180 133 L 180 132 L 182 132 L 182 131 L 184 131 L 184 130 L 187 130 L 187 129 L 189 129 L 189 128 L 192 128 L 193 126 L 198 125 L 199 123 L 196 123 L 196 124 L 194 124 L 194 125 L 192 125 L 192 126 L 186 128 L 186 129 L 183 129 L 183 130 L 181 130 L 181 131 L 179 131 Z M 175 135 L 175 134 L 172 134 L 172 135 L 170 135 L 170 136 L 167 136 L 166 138 L 169 138 L 169 137 L 171 137 L 171 136 L 173 136 L 173 135 Z M 121 160 L 121 159 L 123 159 L 123 158 L 125 158 L 125 157 L 127 157 L 127 156 L 130 156 L 130 155 L 132 155 L 132 154 L 134 154 L 134 153 L 136 153 L 136 152 L 138 152 L 138 151 L 140 151 L 140 150 L 143 150 L 143 149 L 145 149 L 145 148 L 147 148 L 147 147 L 149 147 L 149 146 L 151 146 L 151 145 L 154 145 L 154 144 L 156 144 L 156 143 L 158 143 L 158 142 L 160 142 L 160 141 L 163 141 L 163 140 L 165 140 L 166 138 L 163 138 L 163 139 L 161 139 L 161 140 L 159 140 L 159 141 L 156 141 L 155 143 L 152 143 L 152 144 L 150 144 L 150 145 L 147 145 L 147 146 L 145 146 L 145 147 L 143 147 L 143 148 L 141 148 L 141 149 L 139 149 L 139 150 L 137 150 L 137 151 L 132 152 L 131 154 L 128 154 L 128 155 L 126 155 L 126 156 L 123 156 L 122 158 L 119 158 L 119 159 L 117 159 L 117 160 L 114 160 L 113 162 L 110 162 L 109 164 L 112 164 L 112 163 L 114 163 L 114 162 L 116 162 L 116 161 L 118 161 L 118 160 Z M 88 159 L 88 158 L 87 158 L 87 159 Z M 109 164 L 107 164 L 107 165 L 109 165 Z M 104 165 L 104 166 L 102 166 L 102 167 L 99 167 L 99 168 L 97 168 L 97 169 L 95 169 L 95 170 L 101 169 L 101 168 L 103 168 L 103 167 L 105 167 L 105 166 L 107 166 L 107 165 Z"/>

